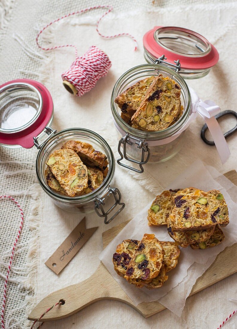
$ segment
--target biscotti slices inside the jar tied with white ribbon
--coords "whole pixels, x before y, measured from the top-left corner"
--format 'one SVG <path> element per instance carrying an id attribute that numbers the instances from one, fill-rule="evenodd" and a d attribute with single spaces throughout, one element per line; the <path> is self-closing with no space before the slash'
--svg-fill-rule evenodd
<path id="1" fill-rule="evenodd" d="M 138 81 L 117 96 L 115 102 L 121 109 L 121 118 L 133 128 L 159 131 L 183 114 L 180 90 L 178 83 L 160 74 Z"/>

